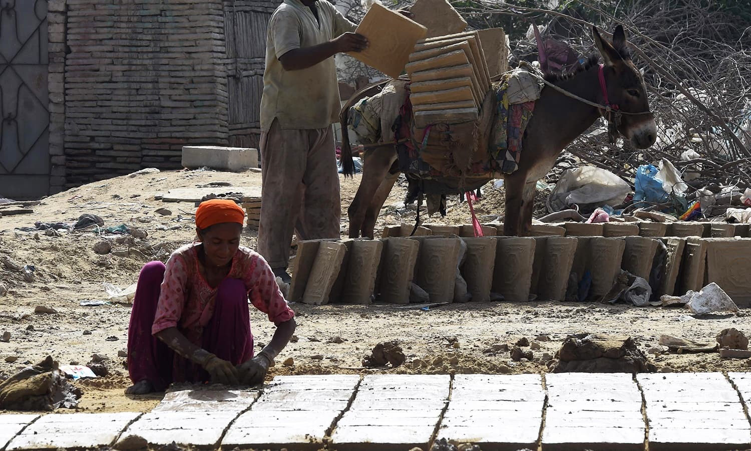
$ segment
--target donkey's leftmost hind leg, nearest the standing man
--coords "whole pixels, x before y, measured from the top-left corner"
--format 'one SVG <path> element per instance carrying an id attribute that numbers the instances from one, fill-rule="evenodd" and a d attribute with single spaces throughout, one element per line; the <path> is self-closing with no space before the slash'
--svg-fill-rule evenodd
<path id="1" fill-rule="evenodd" d="M 376 189 L 388 174 L 394 157 L 394 146 L 376 147 L 366 154 L 363 160 L 363 177 L 360 187 L 347 210 L 349 216 L 349 238 L 358 238 L 363 228 L 365 214 L 372 202 Z"/>

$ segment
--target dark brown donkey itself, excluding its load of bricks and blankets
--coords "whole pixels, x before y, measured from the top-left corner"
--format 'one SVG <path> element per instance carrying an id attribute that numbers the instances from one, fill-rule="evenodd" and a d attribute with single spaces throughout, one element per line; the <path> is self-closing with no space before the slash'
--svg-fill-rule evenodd
<path id="1" fill-rule="evenodd" d="M 553 168 L 559 153 L 598 117 L 610 120 L 611 132 L 620 133 L 638 149 L 646 149 L 656 140 L 657 126 L 647 101 L 647 89 L 631 61 L 623 26 L 616 27 L 612 44 L 602 38 L 596 27 L 592 32 L 604 65 L 597 64 L 597 57 L 593 56 L 575 74 L 545 77 L 553 86 L 546 86 L 536 101 L 523 135 L 517 171 L 504 176 L 504 235 L 531 234 L 535 183 Z M 347 126 L 347 113 L 342 110 L 342 130 Z M 345 176 L 351 176 L 351 148 L 348 142 L 342 147 L 342 168 Z M 357 238 L 360 233 L 373 238 L 375 221 L 398 176 L 394 145 L 375 147 L 365 153 L 362 180 L 348 209 L 350 238 Z"/>

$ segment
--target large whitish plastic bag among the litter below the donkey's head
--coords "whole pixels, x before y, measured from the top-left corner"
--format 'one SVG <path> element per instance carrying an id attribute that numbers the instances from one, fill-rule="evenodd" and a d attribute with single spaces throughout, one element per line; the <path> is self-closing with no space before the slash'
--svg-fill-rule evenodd
<path id="1" fill-rule="evenodd" d="M 603 205 L 615 206 L 631 192 L 631 186 L 616 174 L 592 166 L 564 172 L 547 197 L 550 213 L 567 210 L 577 204 L 582 213 L 590 213 Z"/>

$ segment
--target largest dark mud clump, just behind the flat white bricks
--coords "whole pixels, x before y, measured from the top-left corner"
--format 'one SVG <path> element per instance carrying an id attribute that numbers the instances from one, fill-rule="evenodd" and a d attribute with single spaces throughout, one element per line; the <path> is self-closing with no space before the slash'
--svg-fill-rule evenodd
<path id="1" fill-rule="evenodd" d="M 549 368 L 553 373 L 652 373 L 654 365 L 632 337 L 574 334 L 566 337 Z"/>

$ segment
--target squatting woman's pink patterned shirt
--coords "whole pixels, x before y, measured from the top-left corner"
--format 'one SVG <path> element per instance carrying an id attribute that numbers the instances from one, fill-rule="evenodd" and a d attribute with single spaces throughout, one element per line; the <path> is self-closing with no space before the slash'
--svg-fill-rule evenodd
<path id="1" fill-rule="evenodd" d="M 181 247 L 167 261 L 152 334 L 177 327 L 193 344 L 201 344 L 204 327 L 214 314 L 217 288 L 209 286 L 198 270 L 199 246 L 201 244 Z M 269 321 L 278 325 L 294 317 L 279 291 L 276 277 L 260 254 L 241 246 L 232 259 L 227 277 L 243 280 L 250 301 L 269 315 Z"/>

